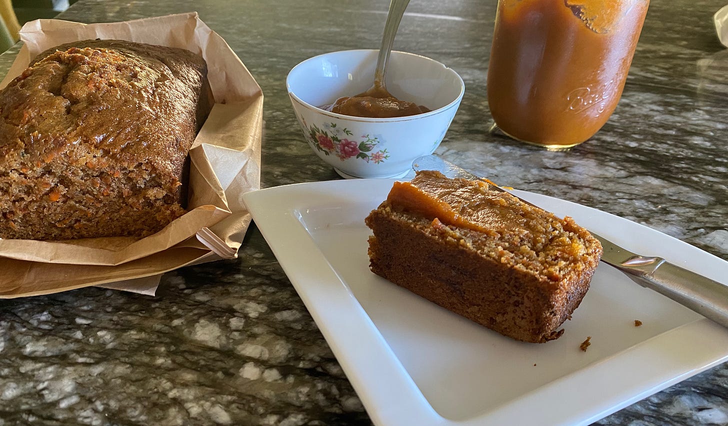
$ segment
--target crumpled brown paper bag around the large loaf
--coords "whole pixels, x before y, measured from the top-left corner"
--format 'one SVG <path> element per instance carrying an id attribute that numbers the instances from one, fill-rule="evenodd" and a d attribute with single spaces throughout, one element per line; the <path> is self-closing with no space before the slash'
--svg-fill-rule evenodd
<path id="1" fill-rule="evenodd" d="M 154 293 L 162 273 L 221 259 L 203 244 L 205 238 L 197 236 L 203 228 L 237 253 L 250 224 L 242 194 L 260 188 L 263 94 L 221 36 L 191 12 L 90 25 L 35 20 L 23 25 L 20 37 L 24 45 L 0 87 L 50 47 L 84 39 L 123 39 L 202 55 L 215 106 L 190 151 L 188 213 L 141 240 L 0 240 L 0 298 L 88 285 Z"/>

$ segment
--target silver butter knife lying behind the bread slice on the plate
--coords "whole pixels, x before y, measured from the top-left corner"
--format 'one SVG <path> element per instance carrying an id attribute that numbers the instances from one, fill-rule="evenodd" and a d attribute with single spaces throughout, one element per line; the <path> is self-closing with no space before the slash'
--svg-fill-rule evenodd
<path id="1" fill-rule="evenodd" d="M 481 178 L 436 155 L 419 157 L 412 163 L 414 170 L 437 170 L 448 178 Z M 496 191 L 507 192 L 493 185 Z M 530 205 L 530 202 L 522 200 Z M 619 269 L 635 283 L 667 296 L 704 317 L 728 328 L 728 285 L 713 281 L 696 272 L 678 267 L 655 256 L 641 256 L 614 242 L 591 234 L 601 242 L 604 254 L 601 261 Z"/>

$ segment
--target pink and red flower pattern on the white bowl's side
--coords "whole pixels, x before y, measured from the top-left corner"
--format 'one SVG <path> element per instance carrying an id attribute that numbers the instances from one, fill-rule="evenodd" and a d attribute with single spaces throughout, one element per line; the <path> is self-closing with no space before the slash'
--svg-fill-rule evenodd
<path id="1" fill-rule="evenodd" d="M 349 158 L 363 159 L 365 162 L 373 162 L 379 164 L 389 158 L 387 149 L 374 148 L 379 144 L 379 138 L 372 138 L 370 135 L 362 135 L 362 141 L 356 141 L 355 138 L 349 139 L 352 132 L 346 127 L 339 129 L 336 123 L 329 123 L 324 127 L 328 130 L 322 130 L 317 125 L 306 126 L 305 121 L 301 121 L 304 125 L 304 135 L 309 143 L 317 150 L 325 155 L 336 155 L 341 161 Z M 343 136 L 343 137 L 341 137 Z"/>

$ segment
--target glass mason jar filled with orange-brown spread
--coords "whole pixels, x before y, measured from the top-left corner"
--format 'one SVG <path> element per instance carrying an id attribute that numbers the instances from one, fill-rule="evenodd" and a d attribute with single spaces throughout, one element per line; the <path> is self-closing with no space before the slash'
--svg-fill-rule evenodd
<path id="1" fill-rule="evenodd" d="M 609 119 L 649 0 L 499 0 L 488 104 L 511 138 L 566 149 Z"/>

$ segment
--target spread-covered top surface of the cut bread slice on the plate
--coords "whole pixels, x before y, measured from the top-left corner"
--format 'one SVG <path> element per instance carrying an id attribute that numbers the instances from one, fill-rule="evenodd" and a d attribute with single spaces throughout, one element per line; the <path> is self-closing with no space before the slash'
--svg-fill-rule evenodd
<path id="1" fill-rule="evenodd" d="M 558 282 L 601 256 L 598 240 L 572 218 L 558 218 L 482 181 L 425 170 L 411 183 L 395 182 L 386 203 L 436 218 L 432 226 L 448 226 L 463 248 L 545 282 Z"/>

